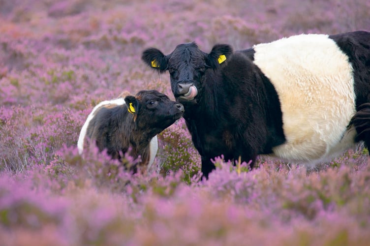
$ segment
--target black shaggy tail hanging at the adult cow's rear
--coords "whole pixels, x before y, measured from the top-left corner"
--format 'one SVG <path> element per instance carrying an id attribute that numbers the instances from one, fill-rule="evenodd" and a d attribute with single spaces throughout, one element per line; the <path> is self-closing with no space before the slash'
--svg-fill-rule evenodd
<path id="1" fill-rule="evenodd" d="M 356 141 L 364 141 L 370 154 L 370 103 L 361 104 L 351 119 L 357 131 Z"/>

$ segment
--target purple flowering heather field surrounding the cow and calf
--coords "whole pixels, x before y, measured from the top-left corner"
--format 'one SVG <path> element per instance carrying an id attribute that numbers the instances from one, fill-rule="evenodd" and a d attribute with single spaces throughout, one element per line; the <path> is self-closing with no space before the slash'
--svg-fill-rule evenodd
<path id="1" fill-rule="evenodd" d="M 356 30 L 370 31 L 369 0 L 0 0 L 0 245 L 369 246 L 362 146 L 310 170 L 219 157 L 201 181 L 181 119 L 158 136 L 146 174 L 77 153 L 100 101 L 142 89 L 173 99 L 168 73 L 140 60 L 145 48 Z"/>

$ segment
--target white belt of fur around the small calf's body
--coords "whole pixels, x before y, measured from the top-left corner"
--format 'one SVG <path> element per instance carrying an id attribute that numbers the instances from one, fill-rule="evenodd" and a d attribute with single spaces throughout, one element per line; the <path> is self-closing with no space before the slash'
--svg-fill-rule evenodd
<path id="1" fill-rule="evenodd" d="M 103 106 L 104 107 L 107 107 L 107 106 L 110 106 L 110 105 L 117 105 L 118 106 L 118 105 L 123 105 L 123 104 L 125 104 L 124 98 L 119 97 L 119 98 L 116 98 L 116 99 L 113 99 L 113 100 L 102 101 L 92 109 L 92 111 L 89 114 L 86 122 L 82 125 L 81 131 L 80 131 L 80 136 L 78 137 L 78 141 L 77 141 L 78 154 L 82 154 L 83 151 L 84 151 L 86 131 L 88 129 L 88 126 L 89 126 L 91 120 L 94 118 L 95 113 L 98 111 L 98 109 L 100 109 Z M 151 142 L 150 142 L 148 170 L 154 162 L 154 158 L 155 158 L 155 155 L 156 155 L 157 151 L 158 151 L 158 140 L 157 140 L 157 136 L 155 135 L 152 138 Z"/>

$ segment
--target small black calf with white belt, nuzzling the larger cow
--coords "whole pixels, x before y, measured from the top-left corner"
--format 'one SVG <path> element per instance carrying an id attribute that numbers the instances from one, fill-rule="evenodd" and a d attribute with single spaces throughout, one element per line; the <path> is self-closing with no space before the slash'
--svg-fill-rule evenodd
<path id="1" fill-rule="evenodd" d="M 140 156 L 140 165 L 149 169 L 158 149 L 156 135 L 180 119 L 183 113 L 181 103 L 155 90 L 140 91 L 135 96 L 124 92 L 92 109 L 80 131 L 79 154 L 83 153 L 87 140 L 91 140 L 100 152 L 107 150 L 112 158 L 120 159 L 120 153 L 127 151 L 134 158 Z"/>

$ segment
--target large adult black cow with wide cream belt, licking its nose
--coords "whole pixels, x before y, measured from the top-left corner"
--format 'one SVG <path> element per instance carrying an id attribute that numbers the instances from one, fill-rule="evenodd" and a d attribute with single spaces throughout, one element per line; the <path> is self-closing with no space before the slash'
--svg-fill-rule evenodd
<path id="1" fill-rule="evenodd" d="M 221 154 L 315 163 L 359 141 L 370 147 L 369 32 L 301 34 L 235 53 L 185 43 L 169 55 L 149 48 L 142 60 L 169 71 L 205 177 Z"/>

